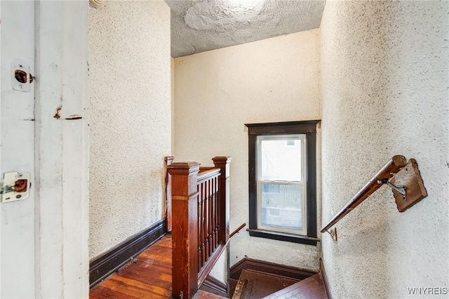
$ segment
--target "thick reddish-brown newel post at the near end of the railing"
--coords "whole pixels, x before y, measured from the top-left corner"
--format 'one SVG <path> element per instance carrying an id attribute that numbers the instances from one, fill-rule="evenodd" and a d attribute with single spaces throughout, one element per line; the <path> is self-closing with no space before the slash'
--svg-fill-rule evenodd
<path id="1" fill-rule="evenodd" d="M 173 298 L 192 298 L 198 289 L 198 191 L 196 162 L 167 166 L 172 185 Z"/>

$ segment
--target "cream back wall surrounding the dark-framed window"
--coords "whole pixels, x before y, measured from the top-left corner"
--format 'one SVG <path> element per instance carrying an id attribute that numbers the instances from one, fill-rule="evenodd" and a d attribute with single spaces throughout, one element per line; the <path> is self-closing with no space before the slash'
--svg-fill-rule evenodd
<path id="1" fill-rule="evenodd" d="M 244 124 L 307 119 L 320 119 L 318 29 L 175 58 L 175 159 L 212 165 L 215 156 L 232 157 L 231 231 L 248 223 Z M 247 255 L 317 268 L 319 252 L 241 230 L 230 256 L 231 265 Z"/>

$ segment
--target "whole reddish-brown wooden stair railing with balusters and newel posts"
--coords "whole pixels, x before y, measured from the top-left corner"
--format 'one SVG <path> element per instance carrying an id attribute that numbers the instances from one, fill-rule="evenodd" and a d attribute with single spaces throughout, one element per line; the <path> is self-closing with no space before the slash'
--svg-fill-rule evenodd
<path id="1" fill-rule="evenodd" d="M 171 190 L 173 298 L 192 298 L 229 241 L 229 157 L 215 167 L 167 166 Z"/>

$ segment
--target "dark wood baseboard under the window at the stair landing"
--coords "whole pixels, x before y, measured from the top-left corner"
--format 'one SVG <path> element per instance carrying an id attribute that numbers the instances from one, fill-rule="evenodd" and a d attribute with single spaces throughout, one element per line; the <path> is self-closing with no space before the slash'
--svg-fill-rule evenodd
<path id="1" fill-rule="evenodd" d="M 279 265 L 275 263 L 264 262 L 263 260 L 253 260 L 252 258 L 243 258 L 234 266 L 231 267 L 231 279 L 239 279 L 242 270 L 257 270 L 269 274 L 275 274 L 290 279 L 301 281 L 307 277 L 316 274 L 316 271 L 291 267 L 286 265 Z"/>

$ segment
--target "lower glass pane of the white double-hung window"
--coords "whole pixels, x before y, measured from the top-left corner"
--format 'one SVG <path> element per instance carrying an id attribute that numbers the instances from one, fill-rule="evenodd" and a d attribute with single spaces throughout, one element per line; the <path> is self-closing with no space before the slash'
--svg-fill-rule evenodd
<path id="1" fill-rule="evenodd" d="M 262 183 L 261 224 L 302 230 L 300 185 Z"/>

